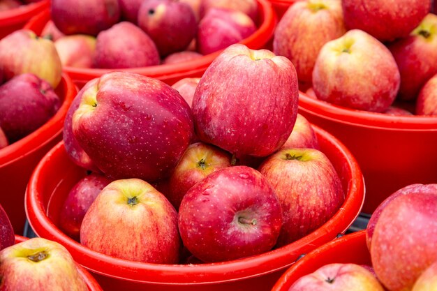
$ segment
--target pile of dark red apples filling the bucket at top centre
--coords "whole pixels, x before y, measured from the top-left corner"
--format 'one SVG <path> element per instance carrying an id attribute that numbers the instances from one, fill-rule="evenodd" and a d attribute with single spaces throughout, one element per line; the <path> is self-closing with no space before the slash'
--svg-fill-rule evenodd
<path id="1" fill-rule="evenodd" d="M 93 11 L 93 13 L 89 13 Z M 256 31 L 256 0 L 54 0 L 50 36 L 64 66 L 138 68 L 197 59 Z"/>

